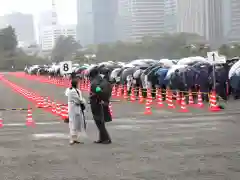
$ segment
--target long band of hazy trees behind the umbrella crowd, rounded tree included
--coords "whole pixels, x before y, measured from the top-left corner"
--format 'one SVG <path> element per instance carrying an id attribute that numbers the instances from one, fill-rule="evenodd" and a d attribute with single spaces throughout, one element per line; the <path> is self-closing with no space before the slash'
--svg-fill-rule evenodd
<path id="1" fill-rule="evenodd" d="M 60 37 L 54 47 L 54 57 L 79 62 L 129 61 L 145 59 L 179 59 L 189 56 L 203 56 L 211 49 L 204 37 L 192 33 L 164 34 L 159 37 L 145 36 L 138 42 L 117 41 L 108 44 L 90 45 L 87 48 L 71 37 Z M 223 44 L 219 54 L 228 58 L 240 55 L 239 44 Z M 95 56 L 91 56 L 94 54 Z M 67 58 L 68 57 L 68 58 Z"/>

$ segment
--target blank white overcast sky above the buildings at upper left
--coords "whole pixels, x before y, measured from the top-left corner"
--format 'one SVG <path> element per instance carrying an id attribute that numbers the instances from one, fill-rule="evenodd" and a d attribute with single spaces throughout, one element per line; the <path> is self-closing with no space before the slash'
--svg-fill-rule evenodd
<path id="1" fill-rule="evenodd" d="M 0 16 L 13 12 L 32 14 L 35 24 L 39 21 L 39 14 L 50 10 L 51 0 L 0 0 Z M 61 24 L 76 24 L 76 0 L 55 0 L 59 22 Z"/>

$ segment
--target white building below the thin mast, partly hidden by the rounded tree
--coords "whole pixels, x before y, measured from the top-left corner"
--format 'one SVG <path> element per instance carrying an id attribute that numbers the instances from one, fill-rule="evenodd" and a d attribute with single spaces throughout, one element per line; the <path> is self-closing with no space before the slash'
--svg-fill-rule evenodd
<path id="1" fill-rule="evenodd" d="M 51 51 L 59 36 L 72 36 L 76 40 L 76 26 L 75 25 L 55 25 L 46 26 L 41 29 L 40 44 L 43 51 Z"/>

